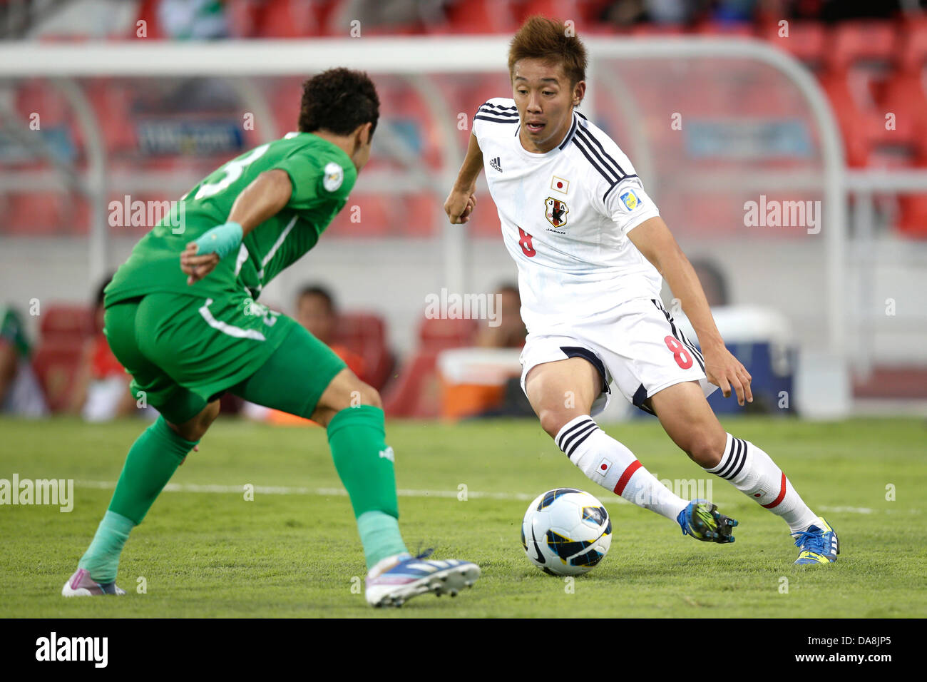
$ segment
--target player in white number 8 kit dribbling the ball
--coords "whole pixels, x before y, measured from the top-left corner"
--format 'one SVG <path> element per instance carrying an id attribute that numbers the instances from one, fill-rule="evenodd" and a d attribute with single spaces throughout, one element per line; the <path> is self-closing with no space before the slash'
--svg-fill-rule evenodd
<path id="1" fill-rule="evenodd" d="M 518 265 L 528 331 L 522 388 L 541 427 L 591 481 L 678 521 L 683 534 L 731 542 L 737 521 L 674 495 L 599 429 L 592 416 L 614 385 L 703 469 L 781 516 L 801 549 L 795 563 L 830 563 L 839 551 L 831 526 L 766 452 L 724 431 L 705 400 L 720 386 L 741 405 L 751 401 L 750 374 L 725 347 L 692 265 L 628 157 L 576 110 L 586 61 L 562 22 L 526 21 L 509 50 L 513 97 L 476 111 L 444 206 L 451 223 L 469 221 L 485 172 Z M 704 355 L 660 302 L 664 278 Z"/>

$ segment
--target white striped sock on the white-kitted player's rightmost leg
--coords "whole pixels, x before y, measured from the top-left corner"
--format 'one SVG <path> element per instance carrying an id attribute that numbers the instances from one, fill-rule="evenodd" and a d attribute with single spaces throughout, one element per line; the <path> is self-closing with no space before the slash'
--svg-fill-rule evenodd
<path id="1" fill-rule="evenodd" d="M 708 473 L 715 473 L 776 516 L 781 516 L 792 533 L 806 531 L 818 520 L 776 463 L 750 441 L 728 434 L 724 457 Z"/>

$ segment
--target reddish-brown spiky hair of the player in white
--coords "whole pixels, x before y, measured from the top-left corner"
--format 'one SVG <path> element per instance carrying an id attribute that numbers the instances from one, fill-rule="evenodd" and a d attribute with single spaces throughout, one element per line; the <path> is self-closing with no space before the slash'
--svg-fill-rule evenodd
<path id="1" fill-rule="evenodd" d="M 586 47 L 563 21 L 547 17 L 529 17 L 518 29 L 509 45 L 509 75 L 514 75 L 520 59 L 543 59 L 562 64 L 571 85 L 586 80 Z"/>

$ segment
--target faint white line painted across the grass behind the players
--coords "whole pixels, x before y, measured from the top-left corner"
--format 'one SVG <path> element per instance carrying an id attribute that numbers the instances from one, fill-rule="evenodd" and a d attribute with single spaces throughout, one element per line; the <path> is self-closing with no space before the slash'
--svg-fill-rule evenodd
<path id="1" fill-rule="evenodd" d="M 113 481 L 75 481 L 74 485 L 78 488 L 99 488 L 103 490 L 112 490 L 116 487 L 116 483 Z M 168 483 L 164 486 L 164 490 L 168 493 L 243 493 L 245 484 L 212 485 L 200 483 Z M 348 495 L 348 491 L 344 488 L 309 488 L 292 485 L 255 485 L 254 492 L 260 493 L 261 495 L 322 495 L 328 497 L 345 497 Z M 396 491 L 396 494 L 400 497 L 456 498 L 460 495 L 460 492 L 456 490 L 411 490 L 408 488 L 400 488 Z M 513 500 L 519 502 L 527 502 L 537 497 L 537 495 L 529 495 L 527 493 L 484 493 L 473 490 L 467 491 L 466 496 L 467 498 L 484 497 L 487 499 Z M 609 500 L 609 502 L 627 503 L 628 501 L 622 497 L 616 497 Z M 834 514 L 874 514 L 880 511 L 879 509 L 869 507 L 819 507 L 819 509 Z M 884 511 L 888 513 L 894 511 L 894 509 L 884 509 Z M 919 509 L 909 509 L 909 511 L 912 513 L 920 513 Z"/>

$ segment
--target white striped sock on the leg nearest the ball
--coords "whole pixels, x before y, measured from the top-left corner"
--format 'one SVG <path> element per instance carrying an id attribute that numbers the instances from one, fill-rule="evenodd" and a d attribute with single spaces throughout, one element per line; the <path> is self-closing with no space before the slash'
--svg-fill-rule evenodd
<path id="1" fill-rule="evenodd" d="M 638 507 L 676 521 L 689 504 L 641 467 L 637 457 L 602 431 L 589 415 L 572 419 L 553 440 L 590 481 Z"/>

